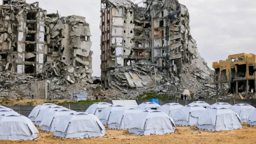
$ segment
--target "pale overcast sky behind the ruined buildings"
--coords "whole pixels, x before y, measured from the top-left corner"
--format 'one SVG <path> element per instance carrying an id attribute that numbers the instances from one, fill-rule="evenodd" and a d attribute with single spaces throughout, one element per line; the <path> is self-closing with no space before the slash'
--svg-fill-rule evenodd
<path id="1" fill-rule="evenodd" d="M 33 3 L 35 0 L 26 0 Z M 47 13 L 80 15 L 90 24 L 93 76 L 100 77 L 100 0 L 37 0 Z M 135 0 L 135 3 L 140 0 Z M 179 0 L 190 13 L 191 35 L 212 66 L 229 54 L 256 54 L 256 0 Z"/>

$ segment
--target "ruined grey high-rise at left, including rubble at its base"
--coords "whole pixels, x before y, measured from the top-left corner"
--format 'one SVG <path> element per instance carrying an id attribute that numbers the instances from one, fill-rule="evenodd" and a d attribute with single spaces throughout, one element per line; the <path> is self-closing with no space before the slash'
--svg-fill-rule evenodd
<path id="1" fill-rule="evenodd" d="M 92 42 L 85 19 L 74 15 L 61 17 L 58 12 L 47 14 L 38 2 L 3 0 L 0 5 L 0 91 L 16 84 L 27 84 L 25 87 L 30 90 L 31 80 L 45 80 L 56 86 L 92 84 Z M 21 75 L 25 76 L 17 78 Z M 26 79 L 28 76 L 32 77 Z"/>

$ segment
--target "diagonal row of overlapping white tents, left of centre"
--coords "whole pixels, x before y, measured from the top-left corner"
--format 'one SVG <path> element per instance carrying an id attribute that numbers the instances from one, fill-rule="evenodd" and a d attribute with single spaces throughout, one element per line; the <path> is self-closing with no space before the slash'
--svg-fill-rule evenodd
<path id="1" fill-rule="evenodd" d="M 40 130 L 60 138 L 91 138 L 105 135 L 105 128 L 93 114 L 75 112 L 55 104 L 40 104 L 29 115 Z"/>

